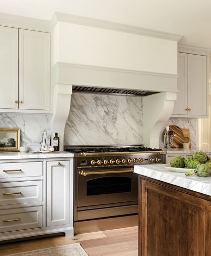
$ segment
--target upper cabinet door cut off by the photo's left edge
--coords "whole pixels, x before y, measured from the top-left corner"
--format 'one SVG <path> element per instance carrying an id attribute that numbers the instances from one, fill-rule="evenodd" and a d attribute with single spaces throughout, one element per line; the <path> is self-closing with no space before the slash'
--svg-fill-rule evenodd
<path id="1" fill-rule="evenodd" d="M 0 108 L 18 108 L 18 29 L 0 26 Z"/>

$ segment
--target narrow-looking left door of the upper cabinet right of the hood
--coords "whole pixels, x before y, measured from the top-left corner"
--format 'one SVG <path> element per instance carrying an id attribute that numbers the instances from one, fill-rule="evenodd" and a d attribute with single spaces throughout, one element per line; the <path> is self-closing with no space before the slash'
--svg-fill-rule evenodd
<path id="1" fill-rule="evenodd" d="M 186 115 L 187 110 L 187 54 L 178 53 L 177 73 L 179 75 L 177 80 L 177 100 L 174 102 L 174 115 Z"/>

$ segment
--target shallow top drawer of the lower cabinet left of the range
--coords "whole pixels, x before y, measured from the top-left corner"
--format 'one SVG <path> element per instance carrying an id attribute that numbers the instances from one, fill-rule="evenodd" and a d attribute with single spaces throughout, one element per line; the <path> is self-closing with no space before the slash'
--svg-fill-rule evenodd
<path id="1" fill-rule="evenodd" d="M 0 163 L 0 179 L 42 176 L 42 162 Z"/>

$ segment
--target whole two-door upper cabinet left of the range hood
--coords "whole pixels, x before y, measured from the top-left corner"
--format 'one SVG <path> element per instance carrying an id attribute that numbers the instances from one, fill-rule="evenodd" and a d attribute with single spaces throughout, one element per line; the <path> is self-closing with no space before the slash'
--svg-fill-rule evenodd
<path id="1" fill-rule="evenodd" d="M 50 110 L 50 33 L 0 26 L 0 38 L 0 111 Z"/>

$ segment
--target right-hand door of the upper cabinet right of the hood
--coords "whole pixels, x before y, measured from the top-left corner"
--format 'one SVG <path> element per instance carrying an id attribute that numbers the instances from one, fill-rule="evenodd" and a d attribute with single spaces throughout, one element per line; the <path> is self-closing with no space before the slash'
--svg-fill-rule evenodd
<path id="1" fill-rule="evenodd" d="M 188 54 L 188 114 L 205 116 L 206 106 L 206 56 Z"/>

